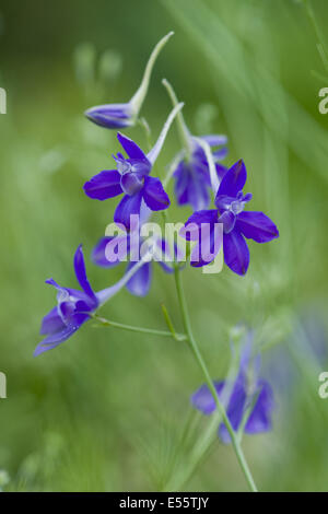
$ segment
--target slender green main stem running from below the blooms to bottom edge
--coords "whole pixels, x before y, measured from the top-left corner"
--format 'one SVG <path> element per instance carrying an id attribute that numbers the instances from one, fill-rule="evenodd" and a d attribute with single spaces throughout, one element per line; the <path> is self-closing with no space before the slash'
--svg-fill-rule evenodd
<path id="1" fill-rule="evenodd" d="M 214 398 L 218 411 L 220 412 L 220 414 L 222 417 L 222 420 L 223 420 L 223 422 L 224 422 L 224 424 L 225 424 L 225 427 L 229 431 L 233 448 L 235 451 L 235 454 L 236 454 L 236 457 L 237 457 L 238 463 L 241 465 L 241 468 L 242 468 L 242 470 L 245 475 L 245 478 L 247 480 L 249 489 L 253 492 L 256 492 L 257 488 L 256 488 L 255 481 L 253 479 L 251 472 L 248 468 L 248 465 L 247 465 L 245 455 L 243 453 L 242 446 L 239 444 L 237 434 L 233 430 L 232 424 L 229 420 L 229 417 L 225 412 L 225 408 L 220 401 L 220 398 L 219 398 L 216 389 L 213 385 L 211 375 L 210 375 L 210 373 L 208 371 L 208 367 L 204 363 L 204 360 L 203 360 L 202 354 L 199 350 L 199 347 L 198 347 L 198 344 L 197 344 L 197 342 L 194 338 L 191 324 L 190 324 L 190 319 L 189 319 L 189 314 L 188 314 L 188 308 L 187 308 L 187 303 L 186 303 L 186 299 L 185 299 L 185 294 L 184 294 L 184 290 L 183 290 L 181 278 L 180 278 L 179 270 L 177 268 L 175 268 L 175 283 L 176 283 L 177 296 L 178 296 L 178 301 L 179 301 L 179 306 L 180 306 L 180 311 L 181 311 L 183 322 L 184 322 L 184 326 L 185 326 L 188 342 L 189 342 L 190 348 L 192 350 L 192 353 L 194 353 L 194 355 L 195 355 L 195 358 L 196 358 L 196 360 L 197 360 L 197 362 L 198 362 L 198 364 L 199 364 L 199 366 L 202 371 L 202 374 L 206 378 L 207 385 L 208 385 L 208 387 L 209 387 L 209 389 L 210 389 L 210 392 L 211 392 L 211 394 Z"/>

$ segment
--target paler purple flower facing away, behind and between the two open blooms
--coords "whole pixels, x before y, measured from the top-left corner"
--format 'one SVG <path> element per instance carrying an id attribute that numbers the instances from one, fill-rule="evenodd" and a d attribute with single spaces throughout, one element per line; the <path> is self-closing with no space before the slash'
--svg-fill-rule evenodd
<path id="1" fill-rule="evenodd" d="M 222 179 L 226 173 L 226 167 L 219 164 L 225 157 L 226 137 L 225 136 L 203 136 L 201 139 L 207 141 L 211 148 L 223 147 L 212 152 L 215 161 L 215 170 L 219 179 Z M 195 211 L 206 209 L 210 202 L 209 189 L 211 188 L 211 178 L 208 161 L 203 149 L 197 141 L 189 136 L 190 148 L 192 152 L 190 157 L 184 156 L 174 172 L 175 195 L 179 206 L 189 203 Z"/>

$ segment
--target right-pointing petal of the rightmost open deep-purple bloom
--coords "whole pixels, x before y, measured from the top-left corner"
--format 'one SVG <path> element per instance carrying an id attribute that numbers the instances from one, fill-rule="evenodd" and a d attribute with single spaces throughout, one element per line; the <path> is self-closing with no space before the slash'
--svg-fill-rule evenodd
<path id="1" fill-rule="evenodd" d="M 273 221 L 262 212 L 242 212 L 237 217 L 236 226 L 245 237 L 257 243 L 267 243 L 279 237 L 279 231 Z"/>

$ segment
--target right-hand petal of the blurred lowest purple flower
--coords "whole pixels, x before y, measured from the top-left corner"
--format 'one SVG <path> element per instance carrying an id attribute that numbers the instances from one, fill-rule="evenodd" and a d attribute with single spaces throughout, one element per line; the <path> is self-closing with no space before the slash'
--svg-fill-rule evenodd
<path id="1" fill-rule="evenodd" d="M 258 381 L 260 393 L 247 420 L 245 432 L 256 434 L 271 430 L 271 413 L 274 407 L 273 392 L 267 381 Z"/>

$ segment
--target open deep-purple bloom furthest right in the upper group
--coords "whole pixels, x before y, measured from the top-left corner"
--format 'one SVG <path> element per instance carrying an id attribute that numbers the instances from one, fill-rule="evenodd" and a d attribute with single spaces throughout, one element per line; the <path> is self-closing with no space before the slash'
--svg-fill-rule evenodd
<path id="1" fill-rule="evenodd" d="M 191 259 L 191 266 L 206 266 L 215 258 L 221 247 L 220 244 L 214 245 L 218 223 L 223 225 L 224 261 L 237 274 L 245 274 L 249 265 L 249 249 L 245 238 L 267 243 L 279 237 L 277 226 L 266 214 L 258 211 L 244 212 L 246 203 L 251 199 L 251 194 L 243 194 L 246 178 L 244 162 L 236 162 L 220 183 L 214 200 L 215 209 L 194 212 L 185 223 L 181 236 L 187 241 L 195 240 L 195 231 L 198 231 L 198 238 L 201 240 L 201 225 L 206 224 L 210 229 L 211 245 L 214 248 L 209 260 Z"/>

